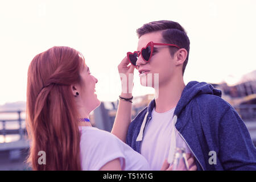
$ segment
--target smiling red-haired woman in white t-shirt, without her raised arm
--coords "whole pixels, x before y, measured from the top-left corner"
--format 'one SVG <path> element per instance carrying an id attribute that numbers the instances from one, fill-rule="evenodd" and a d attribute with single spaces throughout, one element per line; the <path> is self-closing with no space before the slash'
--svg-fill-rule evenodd
<path id="1" fill-rule="evenodd" d="M 27 162 L 34 170 L 149 170 L 146 159 L 114 135 L 90 125 L 100 105 L 80 52 L 52 47 L 31 61 L 27 78 Z M 40 151 L 46 164 L 39 163 Z"/>

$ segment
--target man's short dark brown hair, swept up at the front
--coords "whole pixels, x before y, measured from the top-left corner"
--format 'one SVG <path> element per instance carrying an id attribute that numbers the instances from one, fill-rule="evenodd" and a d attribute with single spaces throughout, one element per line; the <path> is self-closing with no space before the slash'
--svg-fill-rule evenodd
<path id="1" fill-rule="evenodd" d="M 163 31 L 163 43 L 167 44 L 176 44 L 181 48 L 185 48 L 189 55 L 189 38 L 187 36 L 187 32 L 181 25 L 177 22 L 172 22 L 170 20 L 160 20 L 155 22 L 150 22 L 143 24 L 141 28 L 137 29 L 137 35 L 140 38 L 144 34 L 148 34 L 150 32 L 155 31 Z M 171 56 L 174 56 L 174 53 L 178 49 L 175 47 L 170 47 Z M 188 55 L 183 63 L 182 75 L 184 75 L 185 67 L 188 63 Z"/>

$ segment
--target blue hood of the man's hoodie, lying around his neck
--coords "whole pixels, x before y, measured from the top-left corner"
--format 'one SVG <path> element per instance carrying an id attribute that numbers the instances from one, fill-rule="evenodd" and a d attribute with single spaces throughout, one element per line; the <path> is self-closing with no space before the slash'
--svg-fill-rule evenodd
<path id="1" fill-rule="evenodd" d="M 190 81 L 185 86 L 181 93 L 181 97 L 174 111 L 174 115 L 179 117 L 179 114 L 187 104 L 195 97 L 201 94 L 212 94 L 221 97 L 221 90 L 214 89 L 211 84 L 207 82 Z M 155 107 L 155 99 L 150 102 L 147 107 L 148 115 L 151 115 L 152 109 Z"/>

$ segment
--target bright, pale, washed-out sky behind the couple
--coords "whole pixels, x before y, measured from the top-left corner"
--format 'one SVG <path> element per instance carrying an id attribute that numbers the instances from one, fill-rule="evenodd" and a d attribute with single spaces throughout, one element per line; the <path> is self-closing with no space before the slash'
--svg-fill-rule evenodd
<path id="1" fill-rule="evenodd" d="M 117 100 L 117 66 L 137 49 L 135 31 L 154 20 L 174 20 L 191 41 L 185 84 L 234 84 L 256 69 L 256 1 L 0 1 L 0 104 L 26 101 L 32 58 L 53 46 L 80 51 L 98 79 L 101 101 Z M 134 75 L 134 96 L 154 93 Z"/>

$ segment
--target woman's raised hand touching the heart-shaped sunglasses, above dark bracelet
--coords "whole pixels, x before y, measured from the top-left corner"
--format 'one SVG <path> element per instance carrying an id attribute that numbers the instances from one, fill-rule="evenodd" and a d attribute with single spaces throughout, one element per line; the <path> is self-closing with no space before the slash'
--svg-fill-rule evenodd
<path id="1" fill-rule="evenodd" d="M 133 90 L 133 73 L 135 66 L 133 64 L 129 65 L 129 63 L 130 62 L 127 59 L 127 56 L 125 56 L 125 58 L 118 65 L 118 72 L 122 82 L 121 97 L 124 98 L 130 98 Z"/>

